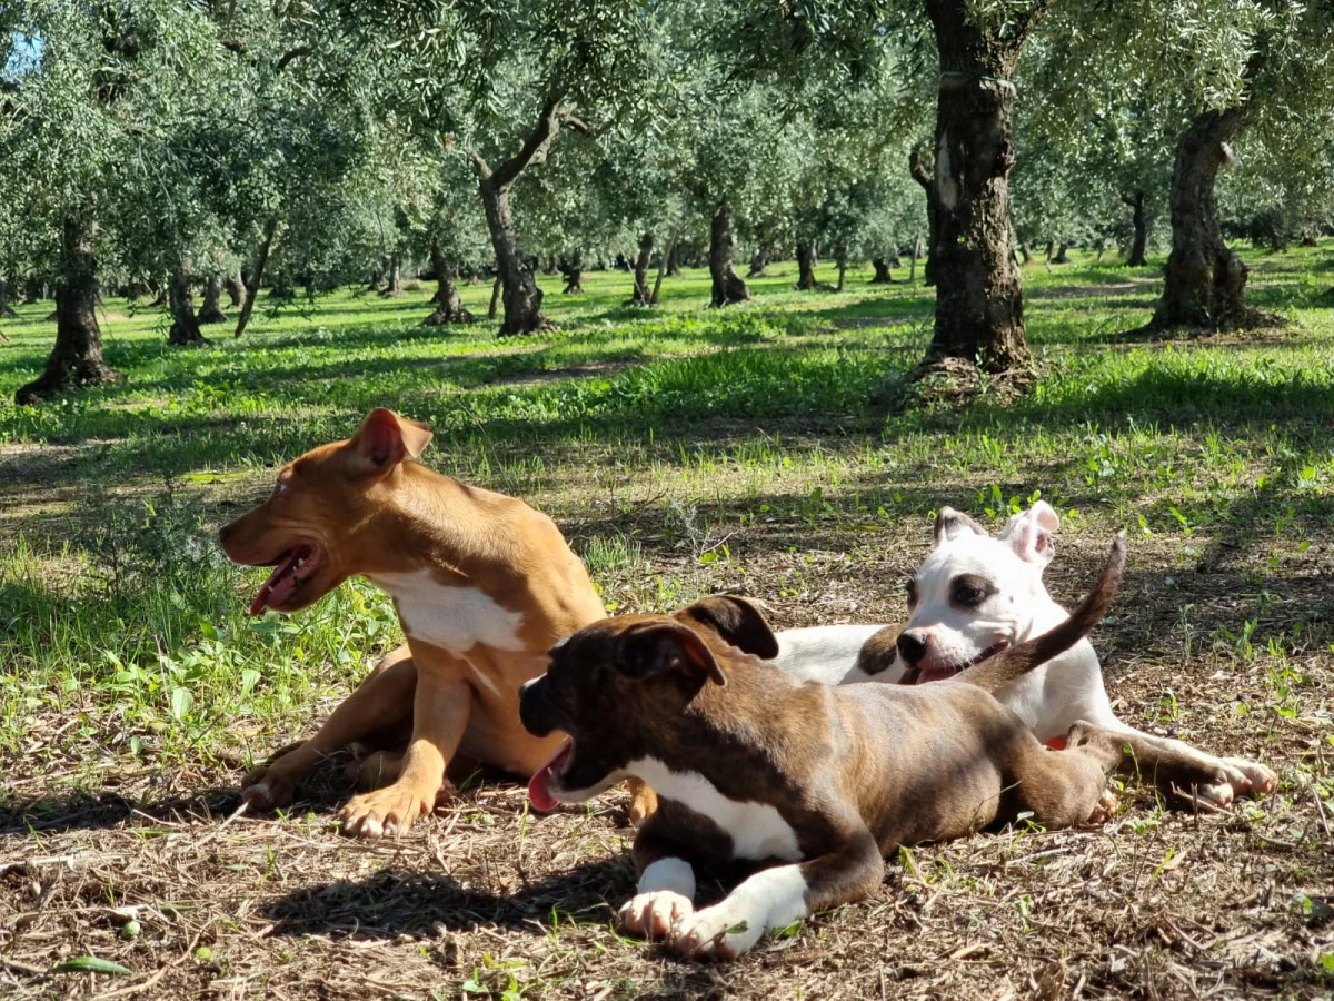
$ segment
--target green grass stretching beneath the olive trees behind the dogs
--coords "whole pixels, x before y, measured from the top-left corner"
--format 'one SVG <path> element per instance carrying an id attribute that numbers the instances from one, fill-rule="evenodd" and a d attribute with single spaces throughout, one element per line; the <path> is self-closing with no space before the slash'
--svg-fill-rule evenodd
<path id="1" fill-rule="evenodd" d="M 435 428 L 428 459 L 442 471 L 566 522 L 598 510 L 614 527 L 656 495 L 664 535 L 698 567 L 732 562 L 714 543 L 756 522 L 887 531 L 943 502 L 1000 517 L 1035 490 L 1182 553 L 1198 549 L 1197 530 L 1231 545 L 1265 537 L 1281 567 L 1331 513 L 1334 322 L 1313 306 L 1330 250 L 1251 255 L 1253 298 L 1295 324 L 1258 342 L 1118 343 L 1143 322 L 1155 268 L 1031 268 L 1037 391 L 888 419 L 879 391 L 920 356 L 931 294 L 859 272 L 844 294 L 811 295 L 779 264 L 752 283 L 752 306 L 726 311 L 702 308 L 707 275 L 688 274 L 647 312 L 620 306 L 626 275 L 590 274 L 586 295 L 548 295 L 560 332 L 510 340 L 490 323 L 418 326 L 430 288 L 261 311 L 244 340 L 213 327 L 201 350 L 167 346 L 160 311 L 108 300 L 107 360 L 125 378 L 0 408 L 16 470 L 0 658 L 17 667 L 0 679 L 0 746 L 79 707 L 124 722 L 128 743 L 107 750 L 152 746 L 171 761 L 264 734 L 359 677 L 394 637 L 383 598 L 356 586 L 295 621 L 249 622 L 252 574 L 209 534 L 231 515 L 219 503 L 263 488 L 264 467 L 380 404 Z M 466 302 L 483 312 L 488 294 L 467 288 Z M 48 308 L 20 307 L 5 326 L 0 396 L 40 366 Z M 590 526 L 576 543 L 615 607 L 706 586 L 634 579 L 646 563 L 632 533 Z"/>

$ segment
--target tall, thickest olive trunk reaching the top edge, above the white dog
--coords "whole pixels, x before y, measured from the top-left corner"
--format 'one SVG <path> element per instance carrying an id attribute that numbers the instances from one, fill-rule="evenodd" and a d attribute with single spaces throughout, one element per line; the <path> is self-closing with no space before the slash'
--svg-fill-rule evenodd
<path id="1" fill-rule="evenodd" d="M 927 363 L 978 362 L 1027 370 L 1023 290 L 1010 238 L 1014 84 L 1023 39 L 1050 0 L 1011 17 L 1005 37 L 984 32 L 964 0 L 927 0 L 940 56 L 935 125 L 938 231 L 928 267 L 936 284 Z"/>

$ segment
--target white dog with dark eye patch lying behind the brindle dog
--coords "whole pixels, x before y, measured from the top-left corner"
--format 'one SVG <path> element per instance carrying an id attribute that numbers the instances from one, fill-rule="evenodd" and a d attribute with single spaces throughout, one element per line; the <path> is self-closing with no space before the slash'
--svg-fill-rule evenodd
<path id="1" fill-rule="evenodd" d="M 1045 500 L 1010 518 L 998 538 L 966 514 L 942 507 L 935 522 L 935 549 L 908 582 L 910 617 L 895 649 L 886 646 L 890 633 L 876 637 L 884 626 L 794 629 L 778 634 L 775 663 L 788 674 L 828 685 L 914 678 L 927 682 L 948 678 L 1039 635 L 1067 618 L 1042 582 L 1054 554 L 1051 535 L 1059 526 L 1061 519 Z M 1195 790 L 1195 802 L 1205 809 L 1226 807 L 1238 795 L 1271 793 L 1278 785 L 1274 773 L 1254 761 L 1215 758 L 1118 719 L 1107 701 L 1098 655 L 1087 639 L 998 690 L 995 697 L 1018 713 L 1041 741 L 1061 738 L 1075 721 L 1085 719 L 1222 769 L 1227 782 Z"/>

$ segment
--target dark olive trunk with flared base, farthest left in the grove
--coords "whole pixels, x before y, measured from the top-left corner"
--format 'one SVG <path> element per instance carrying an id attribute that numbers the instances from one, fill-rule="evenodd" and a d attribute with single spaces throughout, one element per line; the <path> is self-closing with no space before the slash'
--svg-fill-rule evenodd
<path id="1" fill-rule="evenodd" d="M 41 376 L 23 386 L 15 403 L 40 403 L 75 386 L 92 386 L 119 376 L 101 360 L 97 326 L 97 224 L 79 216 L 61 223 L 60 279 L 56 284 L 56 343 Z"/>

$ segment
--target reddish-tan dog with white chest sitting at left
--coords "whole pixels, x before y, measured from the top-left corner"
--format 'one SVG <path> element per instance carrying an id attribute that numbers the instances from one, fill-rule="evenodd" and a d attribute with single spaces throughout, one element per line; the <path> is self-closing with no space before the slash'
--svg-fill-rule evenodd
<path id="1" fill-rule="evenodd" d="M 519 686 L 546 670 L 552 643 L 606 613 L 550 518 L 411 462 L 430 440 L 374 410 L 351 439 L 288 463 L 268 500 L 219 531 L 237 563 L 275 567 L 252 614 L 304 609 L 360 574 L 394 595 L 407 637 L 313 738 L 247 777 L 260 809 L 289 802 L 324 755 L 411 727 L 402 761 L 380 753 L 363 769 L 396 781 L 340 814 L 348 834 L 396 834 L 434 809 L 447 769 L 527 777 L 558 743 L 520 726 Z M 650 809 L 638 791 L 632 815 Z"/>

